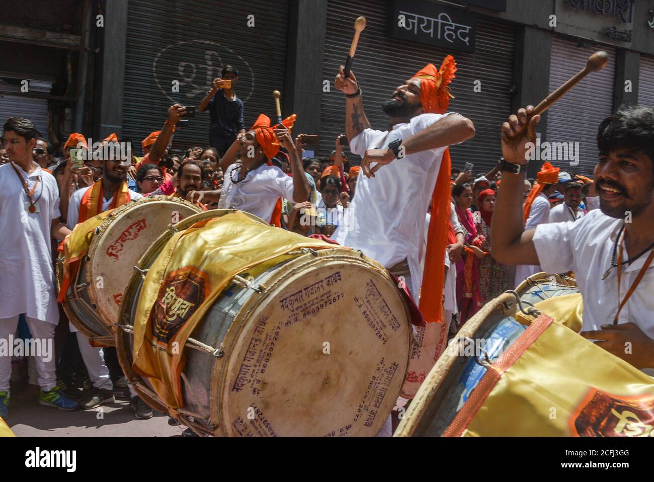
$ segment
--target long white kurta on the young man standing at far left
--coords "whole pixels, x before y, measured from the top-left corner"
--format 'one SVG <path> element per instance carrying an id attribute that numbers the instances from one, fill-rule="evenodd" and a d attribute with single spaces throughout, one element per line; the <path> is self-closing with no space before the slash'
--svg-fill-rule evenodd
<path id="1" fill-rule="evenodd" d="M 16 165 L 16 164 L 14 164 Z M 37 167 L 27 181 L 39 213 L 25 209 L 27 194 L 12 168 L 0 165 L 0 318 L 26 313 L 29 318 L 52 324 L 59 322 L 50 226 L 60 216 L 59 189 L 50 173 Z"/>

